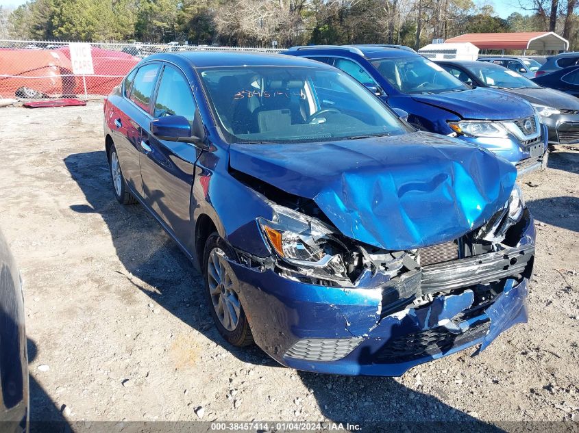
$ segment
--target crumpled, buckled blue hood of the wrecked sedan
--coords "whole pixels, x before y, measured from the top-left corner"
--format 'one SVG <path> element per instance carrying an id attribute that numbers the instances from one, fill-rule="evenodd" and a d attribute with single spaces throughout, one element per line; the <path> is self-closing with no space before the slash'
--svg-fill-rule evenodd
<path id="1" fill-rule="evenodd" d="M 454 240 L 513 189 L 513 164 L 426 132 L 306 144 L 233 144 L 230 166 L 311 198 L 343 235 L 389 250 Z"/>

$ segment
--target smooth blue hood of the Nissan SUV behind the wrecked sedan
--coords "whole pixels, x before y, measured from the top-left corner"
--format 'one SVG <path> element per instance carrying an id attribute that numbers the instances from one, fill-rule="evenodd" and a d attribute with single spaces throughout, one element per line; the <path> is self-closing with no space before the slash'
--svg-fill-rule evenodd
<path id="1" fill-rule="evenodd" d="M 534 114 L 532 107 L 517 96 L 485 88 L 439 94 L 413 94 L 412 99 L 452 111 L 463 119 L 510 120 Z"/>

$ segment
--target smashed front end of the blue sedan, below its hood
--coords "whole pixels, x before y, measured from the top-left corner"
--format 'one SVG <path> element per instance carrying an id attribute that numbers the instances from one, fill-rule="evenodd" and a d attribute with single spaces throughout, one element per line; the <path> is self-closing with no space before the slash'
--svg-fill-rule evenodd
<path id="1" fill-rule="evenodd" d="M 410 250 L 342 235 L 313 200 L 259 192 L 273 210 L 256 221 L 271 255 L 238 250 L 227 265 L 256 342 L 284 365 L 397 376 L 526 322 L 535 233 L 517 186 L 481 226 Z"/>

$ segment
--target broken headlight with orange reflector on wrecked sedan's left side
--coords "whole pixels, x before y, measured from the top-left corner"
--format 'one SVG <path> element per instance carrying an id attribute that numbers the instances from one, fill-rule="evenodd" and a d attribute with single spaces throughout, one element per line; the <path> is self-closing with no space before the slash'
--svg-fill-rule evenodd
<path id="1" fill-rule="evenodd" d="M 331 228 L 320 220 L 287 207 L 272 205 L 271 221 L 260 218 L 258 222 L 273 247 L 284 261 L 293 265 L 324 267 L 331 265 L 342 271 L 342 259 L 335 250 L 330 235 Z"/>

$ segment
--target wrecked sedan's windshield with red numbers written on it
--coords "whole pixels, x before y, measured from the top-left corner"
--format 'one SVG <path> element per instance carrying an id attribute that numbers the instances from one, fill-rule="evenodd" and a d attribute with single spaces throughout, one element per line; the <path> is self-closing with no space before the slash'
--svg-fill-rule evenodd
<path id="1" fill-rule="evenodd" d="M 316 142 L 408 129 L 356 80 L 339 70 L 243 66 L 199 69 L 225 140 Z"/>

